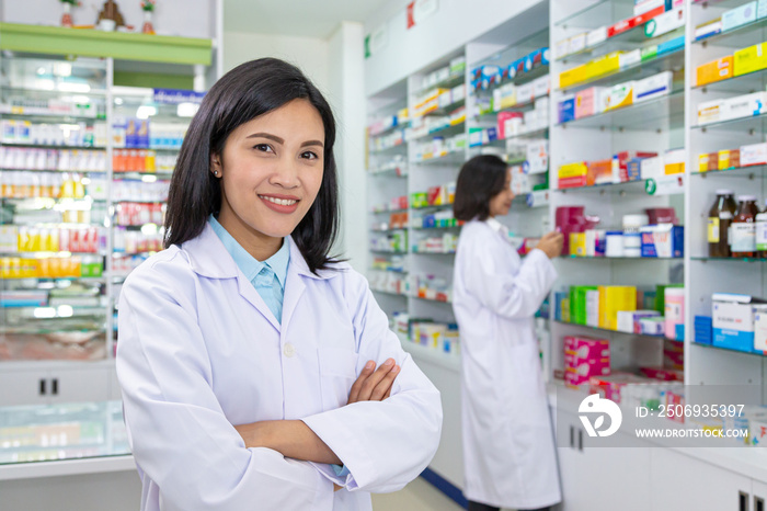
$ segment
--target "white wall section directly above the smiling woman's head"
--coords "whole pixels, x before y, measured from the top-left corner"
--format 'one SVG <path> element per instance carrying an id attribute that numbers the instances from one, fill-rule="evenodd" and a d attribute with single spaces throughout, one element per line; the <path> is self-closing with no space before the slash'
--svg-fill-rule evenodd
<path id="1" fill-rule="evenodd" d="M 262 57 L 298 66 L 322 91 L 329 90 L 329 43 L 314 37 L 224 32 L 224 72 Z"/>

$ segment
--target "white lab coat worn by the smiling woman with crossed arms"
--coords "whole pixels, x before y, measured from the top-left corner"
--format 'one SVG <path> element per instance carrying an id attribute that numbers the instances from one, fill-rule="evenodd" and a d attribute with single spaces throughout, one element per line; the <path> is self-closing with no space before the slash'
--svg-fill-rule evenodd
<path id="1" fill-rule="evenodd" d="M 117 376 L 142 510 L 369 510 L 369 492 L 401 489 L 436 452 L 439 393 L 367 281 L 345 263 L 314 275 L 286 242 L 282 326 L 209 226 L 125 282 Z M 401 366 L 391 397 L 344 406 L 387 357 Z M 304 420 L 351 474 L 247 448 L 232 427 L 275 419 Z"/>

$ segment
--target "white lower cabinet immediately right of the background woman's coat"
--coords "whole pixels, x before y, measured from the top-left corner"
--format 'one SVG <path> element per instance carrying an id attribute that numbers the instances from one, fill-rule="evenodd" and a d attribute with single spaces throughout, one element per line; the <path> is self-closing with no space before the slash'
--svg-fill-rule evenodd
<path id="1" fill-rule="evenodd" d="M 616 433 L 599 446 L 577 416 L 559 410 L 557 421 L 562 511 L 650 509 L 649 444 Z"/>

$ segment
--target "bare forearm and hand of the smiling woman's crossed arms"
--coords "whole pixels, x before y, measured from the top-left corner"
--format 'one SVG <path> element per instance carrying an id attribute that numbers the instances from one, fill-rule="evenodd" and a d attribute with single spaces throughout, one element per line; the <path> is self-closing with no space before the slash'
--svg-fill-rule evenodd
<path id="1" fill-rule="evenodd" d="M 357 401 L 382 401 L 391 394 L 391 385 L 400 367 L 393 359 L 376 370 L 368 361 L 348 394 L 351 405 Z M 268 447 L 285 457 L 304 462 L 341 465 L 339 456 L 304 421 L 270 420 L 236 425 L 247 447 Z M 336 488 L 337 489 L 337 488 Z"/>

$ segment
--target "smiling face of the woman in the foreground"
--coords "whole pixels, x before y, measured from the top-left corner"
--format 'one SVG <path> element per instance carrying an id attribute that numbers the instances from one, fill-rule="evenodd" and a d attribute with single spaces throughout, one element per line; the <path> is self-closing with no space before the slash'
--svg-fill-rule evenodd
<path id="1" fill-rule="evenodd" d="M 238 126 L 213 156 L 218 222 L 243 248 L 279 248 L 301 222 L 322 184 L 324 139 L 319 112 L 299 99 Z"/>

